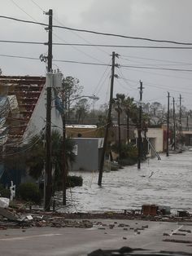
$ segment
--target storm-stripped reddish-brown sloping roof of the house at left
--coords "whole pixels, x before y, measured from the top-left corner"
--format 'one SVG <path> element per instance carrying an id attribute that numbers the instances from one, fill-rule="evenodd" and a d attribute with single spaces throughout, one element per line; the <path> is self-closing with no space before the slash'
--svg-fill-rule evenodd
<path id="1" fill-rule="evenodd" d="M 22 143 L 46 77 L 0 76 L 0 145 Z"/>

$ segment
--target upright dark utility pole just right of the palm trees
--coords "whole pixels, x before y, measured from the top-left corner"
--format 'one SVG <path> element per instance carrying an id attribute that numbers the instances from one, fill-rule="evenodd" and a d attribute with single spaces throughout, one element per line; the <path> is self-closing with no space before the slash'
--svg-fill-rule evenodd
<path id="1" fill-rule="evenodd" d="M 138 121 L 138 160 L 137 160 L 137 169 L 141 168 L 141 160 L 142 160 L 142 93 L 143 93 L 143 87 L 142 87 L 142 81 L 140 81 L 140 99 L 139 99 L 139 121 Z"/>

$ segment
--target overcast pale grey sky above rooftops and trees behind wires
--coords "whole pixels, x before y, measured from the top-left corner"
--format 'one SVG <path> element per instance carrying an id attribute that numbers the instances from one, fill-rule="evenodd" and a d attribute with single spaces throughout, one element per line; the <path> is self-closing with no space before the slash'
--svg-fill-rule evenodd
<path id="1" fill-rule="evenodd" d="M 0 0 L 0 15 L 48 23 L 43 11 L 53 9 L 54 24 L 103 33 L 133 37 L 192 42 L 191 0 Z M 0 40 L 47 42 L 46 30 L 36 24 L 0 19 Z M 168 43 L 143 42 L 125 38 L 98 36 L 89 33 L 54 29 L 54 42 L 92 43 L 128 46 L 176 46 Z M 47 53 L 47 46 L 16 45 L 0 42 L 0 68 L 5 75 L 45 75 L 46 65 L 39 60 L 21 60 L 1 55 L 38 58 Z M 54 46 L 54 60 L 75 60 L 109 64 L 116 51 L 118 64 L 153 68 L 192 69 L 192 50 L 98 48 L 88 46 Z M 149 60 L 150 59 L 150 60 Z M 151 60 L 152 59 L 152 60 Z M 97 95 L 103 104 L 109 98 L 110 68 L 97 65 L 68 64 L 54 61 L 64 76 L 76 77 L 84 86 L 84 94 Z M 186 108 L 192 108 L 192 73 L 141 68 L 116 68 L 114 95 L 124 93 L 139 98 L 139 80 L 145 87 L 143 100 L 166 104 L 167 91 L 178 100 L 183 97 Z"/>

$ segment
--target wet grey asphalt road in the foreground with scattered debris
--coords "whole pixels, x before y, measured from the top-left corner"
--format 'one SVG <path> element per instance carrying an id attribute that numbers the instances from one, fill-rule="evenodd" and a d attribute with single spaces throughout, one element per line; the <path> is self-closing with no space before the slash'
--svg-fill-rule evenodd
<path id="1" fill-rule="evenodd" d="M 111 229 L 109 224 L 114 222 L 116 222 L 115 227 Z M 83 256 L 94 249 L 120 249 L 122 246 L 158 251 L 188 253 L 192 251 L 192 226 L 185 226 L 183 223 L 136 220 L 102 220 L 102 223 L 104 226 L 95 225 L 89 229 L 32 227 L 24 230 L 1 230 L 0 255 Z M 169 236 L 164 236 L 164 233 Z M 168 242 L 163 241 L 164 239 L 190 241 L 190 243 Z"/>

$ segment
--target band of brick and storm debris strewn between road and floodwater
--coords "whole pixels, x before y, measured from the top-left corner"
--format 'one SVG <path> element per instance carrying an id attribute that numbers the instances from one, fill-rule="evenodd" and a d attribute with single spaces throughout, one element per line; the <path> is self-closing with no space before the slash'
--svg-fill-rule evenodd
<path id="1" fill-rule="evenodd" d="M 160 222 L 189 222 L 192 223 L 191 214 L 188 217 L 178 217 L 177 215 L 145 215 L 135 214 L 133 211 L 122 212 L 100 212 L 100 213 L 59 213 L 59 212 L 45 212 L 42 210 L 24 210 L 13 209 L 11 207 L 7 209 L 0 208 L 0 229 L 8 227 L 80 227 L 90 228 L 93 225 L 98 225 L 99 229 L 113 229 L 119 227 L 128 230 L 128 224 L 125 223 L 111 223 L 109 226 L 103 223 L 94 223 L 93 219 L 130 219 L 130 220 L 146 220 L 146 221 L 160 221 Z M 137 222 L 135 223 L 137 225 Z M 148 228 L 148 225 L 142 225 L 142 227 L 129 227 L 135 232 L 140 232 Z M 180 232 L 190 232 L 188 230 L 180 230 Z"/>

